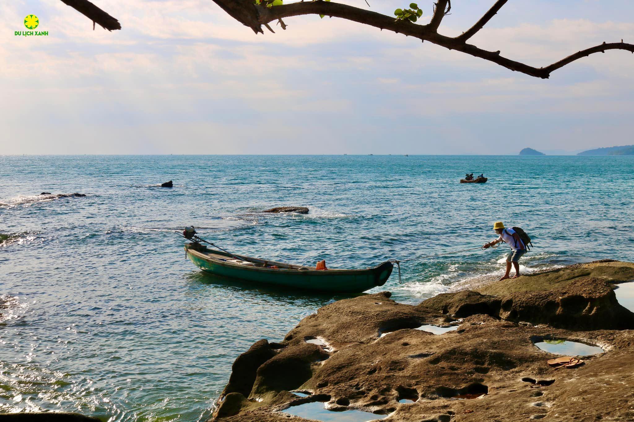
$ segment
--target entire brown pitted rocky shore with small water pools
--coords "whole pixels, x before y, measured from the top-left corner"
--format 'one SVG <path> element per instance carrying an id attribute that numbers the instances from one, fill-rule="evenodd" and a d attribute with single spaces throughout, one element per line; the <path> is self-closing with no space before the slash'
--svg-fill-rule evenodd
<path id="1" fill-rule="evenodd" d="M 212 420 L 306 420 L 290 414 L 311 402 L 389 422 L 634 420 L 634 313 L 614 293 L 628 281 L 634 264 L 604 260 L 419 305 L 388 291 L 334 302 L 240 355 Z M 603 351 L 552 368 L 543 340 Z"/>

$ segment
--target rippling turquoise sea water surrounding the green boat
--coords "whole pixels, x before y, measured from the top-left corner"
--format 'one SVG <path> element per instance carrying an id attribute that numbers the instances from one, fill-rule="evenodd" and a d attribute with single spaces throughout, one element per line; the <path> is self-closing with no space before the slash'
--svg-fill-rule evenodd
<path id="1" fill-rule="evenodd" d="M 0 170 L 0 233 L 19 233 L 0 246 L 0 411 L 203 420 L 238 354 L 342 298 L 202 274 L 172 233 L 189 224 L 329 267 L 478 246 L 498 220 L 533 236 L 526 271 L 634 260 L 633 157 L 10 156 Z M 459 184 L 467 171 L 489 182 Z M 311 213 L 257 213 L 277 205 Z M 403 285 L 373 291 L 418 303 L 500 271 L 507 250 L 408 262 Z"/>

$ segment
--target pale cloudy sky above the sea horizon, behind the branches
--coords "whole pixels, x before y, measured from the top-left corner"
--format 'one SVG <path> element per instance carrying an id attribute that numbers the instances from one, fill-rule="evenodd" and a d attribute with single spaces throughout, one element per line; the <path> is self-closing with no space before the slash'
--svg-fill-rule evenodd
<path id="1" fill-rule="evenodd" d="M 387 15 L 407 3 L 368 1 Z M 0 154 L 517 154 L 634 143 L 626 51 L 543 80 L 338 18 L 287 18 L 287 30 L 256 35 L 211 0 L 93 3 L 122 30 L 93 31 L 59 0 L 0 4 Z M 439 32 L 459 35 L 493 3 L 454 0 Z M 432 1 L 418 5 L 426 23 Z M 31 14 L 47 36 L 15 35 Z M 512 0 L 470 42 L 542 67 L 603 41 L 634 42 L 632 16 L 631 0 Z"/>

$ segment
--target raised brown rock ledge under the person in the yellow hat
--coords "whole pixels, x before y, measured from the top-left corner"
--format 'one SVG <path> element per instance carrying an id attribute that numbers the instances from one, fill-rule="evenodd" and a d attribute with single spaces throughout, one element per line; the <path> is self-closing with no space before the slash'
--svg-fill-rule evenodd
<path id="1" fill-rule="evenodd" d="M 455 317 L 488 314 L 567 329 L 634 329 L 634 314 L 612 289 L 632 280 L 634 264 L 592 262 L 443 293 L 420 306 Z"/>

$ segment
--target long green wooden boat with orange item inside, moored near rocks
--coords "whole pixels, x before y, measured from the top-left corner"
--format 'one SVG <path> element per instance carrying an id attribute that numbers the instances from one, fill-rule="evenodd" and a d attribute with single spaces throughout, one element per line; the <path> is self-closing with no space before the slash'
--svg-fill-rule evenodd
<path id="1" fill-rule="evenodd" d="M 386 261 L 366 269 L 327 269 L 285 264 L 264 259 L 233 255 L 207 248 L 200 243 L 185 245 L 187 257 L 202 271 L 249 283 L 264 283 L 287 288 L 360 293 L 382 286 L 392 274 L 394 264 Z M 239 259 L 236 259 L 239 258 Z M 240 262 L 242 261 L 242 262 Z M 278 268 L 269 268 L 272 266 Z"/>

